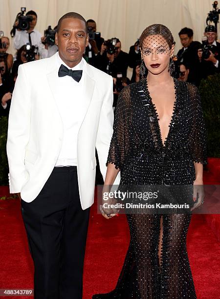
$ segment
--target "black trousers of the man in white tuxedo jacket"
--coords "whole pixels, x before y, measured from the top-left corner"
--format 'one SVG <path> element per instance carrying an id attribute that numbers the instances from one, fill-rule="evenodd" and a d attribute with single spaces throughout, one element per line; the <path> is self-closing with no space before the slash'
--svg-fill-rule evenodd
<path id="1" fill-rule="evenodd" d="M 75 166 L 55 167 L 39 195 L 22 200 L 34 261 L 34 298 L 82 299 L 89 208 L 82 210 Z"/>

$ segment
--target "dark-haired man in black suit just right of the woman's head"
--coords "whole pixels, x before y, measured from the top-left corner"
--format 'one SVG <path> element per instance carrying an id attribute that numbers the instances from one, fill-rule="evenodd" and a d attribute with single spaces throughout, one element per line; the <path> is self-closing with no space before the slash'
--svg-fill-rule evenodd
<path id="1" fill-rule="evenodd" d="M 191 28 L 184 27 L 179 33 L 180 42 L 182 48 L 178 51 L 178 64 L 187 64 L 189 67 L 188 82 L 195 85 L 199 85 L 198 78 L 198 49 L 201 48 L 201 43 L 193 41 L 193 30 Z"/>

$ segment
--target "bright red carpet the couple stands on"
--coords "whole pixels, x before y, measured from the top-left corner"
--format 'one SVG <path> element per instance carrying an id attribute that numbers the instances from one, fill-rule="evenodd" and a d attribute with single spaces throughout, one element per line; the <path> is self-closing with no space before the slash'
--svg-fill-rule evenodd
<path id="1" fill-rule="evenodd" d="M 205 180 L 208 179 L 209 184 L 211 181 L 214 183 L 213 173 L 205 174 Z M 212 215 L 193 215 L 187 238 L 198 299 L 220 298 L 220 246 L 212 226 L 207 224 L 209 217 Z M 22 223 L 20 202 L 16 199 L 0 201 L 0 219 L 0 289 L 33 288 L 33 265 Z M 219 215 L 213 219 L 216 225 L 220 223 Z M 97 215 L 96 205 L 93 205 L 88 229 L 83 299 L 90 299 L 94 293 L 108 292 L 114 288 L 128 244 L 129 231 L 125 215 L 108 221 Z"/>

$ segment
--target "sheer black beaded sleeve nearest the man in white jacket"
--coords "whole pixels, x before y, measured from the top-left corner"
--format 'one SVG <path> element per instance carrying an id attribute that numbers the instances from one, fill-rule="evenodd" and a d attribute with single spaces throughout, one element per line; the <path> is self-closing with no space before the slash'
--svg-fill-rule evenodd
<path id="1" fill-rule="evenodd" d="M 113 135 L 110 142 L 109 156 L 106 165 L 114 164 L 116 169 L 123 169 L 129 153 L 129 128 L 131 123 L 130 87 L 123 88 L 115 108 Z"/>

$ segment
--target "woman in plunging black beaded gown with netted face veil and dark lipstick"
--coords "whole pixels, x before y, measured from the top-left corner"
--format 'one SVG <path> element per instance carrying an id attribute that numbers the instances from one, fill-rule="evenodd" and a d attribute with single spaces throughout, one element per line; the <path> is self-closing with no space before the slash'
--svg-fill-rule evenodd
<path id="1" fill-rule="evenodd" d="M 141 35 L 142 73 L 146 67 L 148 76 L 119 96 L 105 186 L 118 171 L 120 185 L 193 185 L 194 209 L 204 197 L 198 186 L 207 163 L 205 127 L 197 87 L 171 76 L 174 44 L 161 24 Z M 115 215 L 104 207 L 102 214 Z M 186 250 L 191 214 L 127 214 L 127 219 L 131 241 L 116 288 L 92 298 L 195 299 Z"/>

